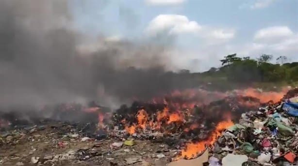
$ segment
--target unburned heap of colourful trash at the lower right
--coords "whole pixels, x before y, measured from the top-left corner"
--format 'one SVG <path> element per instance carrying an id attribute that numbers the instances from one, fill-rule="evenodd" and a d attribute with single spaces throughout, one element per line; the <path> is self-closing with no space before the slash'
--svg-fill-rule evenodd
<path id="1" fill-rule="evenodd" d="M 298 165 L 298 97 L 289 91 L 283 100 L 241 115 L 209 152 L 209 166 Z M 289 97 L 290 98 L 288 100 Z"/>

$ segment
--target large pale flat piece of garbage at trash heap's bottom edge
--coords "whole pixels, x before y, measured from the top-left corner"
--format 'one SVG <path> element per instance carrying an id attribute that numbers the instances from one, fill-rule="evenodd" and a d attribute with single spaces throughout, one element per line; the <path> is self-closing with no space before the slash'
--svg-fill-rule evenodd
<path id="1" fill-rule="evenodd" d="M 228 154 L 222 159 L 222 166 L 241 166 L 246 161 L 248 161 L 246 155 Z"/>

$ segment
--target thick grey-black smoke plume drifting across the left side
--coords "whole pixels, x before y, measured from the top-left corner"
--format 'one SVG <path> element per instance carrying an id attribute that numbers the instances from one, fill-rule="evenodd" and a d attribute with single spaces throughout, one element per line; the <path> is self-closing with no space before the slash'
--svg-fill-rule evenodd
<path id="1" fill-rule="evenodd" d="M 115 106 L 180 84 L 166 72 L 171 61 L 164 47 L 105 37 L 88 44 L 69 6 L 67 0 L 0 1 L 0 107 L 91 100 Z"/>

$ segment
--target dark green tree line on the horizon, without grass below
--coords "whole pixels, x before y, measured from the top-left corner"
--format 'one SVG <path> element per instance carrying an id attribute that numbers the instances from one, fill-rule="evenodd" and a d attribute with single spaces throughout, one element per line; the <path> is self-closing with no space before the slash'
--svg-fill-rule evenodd
<path id="1" fill-rule="evenodd" d="M 272 60 L 273 56 L 267 54 L 257 59 L 231 54 L 220 60 L 221 67 L 213 67 L 202 75 L 224 76 L 229 81 L 239 83 L 298 81 L 298 62 L 287 63 L 285 56 L 278 57 L 276 63 Z"/>

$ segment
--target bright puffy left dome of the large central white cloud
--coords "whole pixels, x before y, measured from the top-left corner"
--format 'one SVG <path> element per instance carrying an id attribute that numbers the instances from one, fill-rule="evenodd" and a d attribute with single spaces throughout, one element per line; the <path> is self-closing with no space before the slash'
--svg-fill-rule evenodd
<path id="1" fill-rule="evenodd" d="M 197 33 L 200 29 L 201 26 L 196 21 L 190 21 L 184 15 L 158 15 L 150 21 L 146 31 L 149 34 L 162 31 L 169 34 L 181 34 Z"/>

